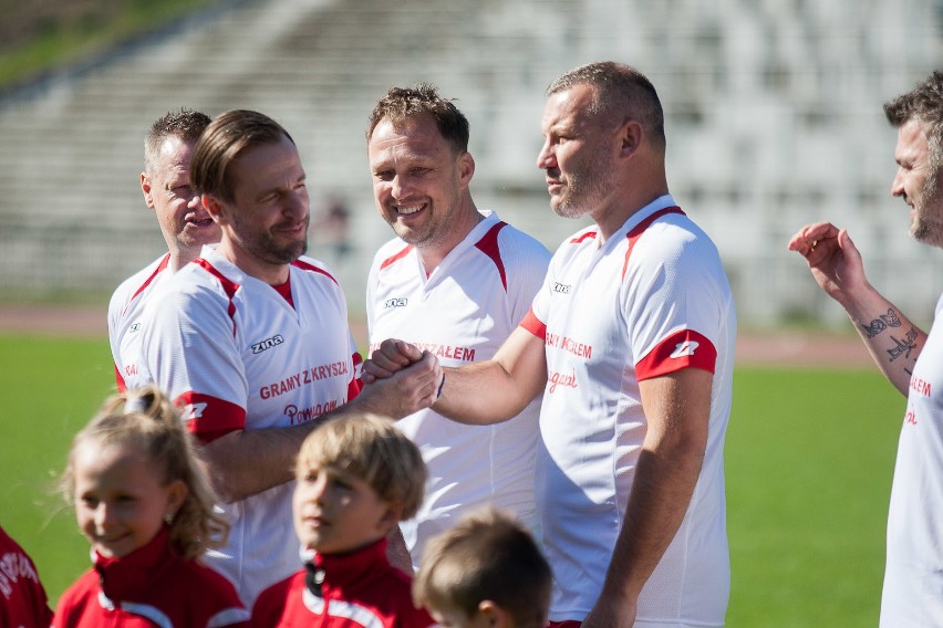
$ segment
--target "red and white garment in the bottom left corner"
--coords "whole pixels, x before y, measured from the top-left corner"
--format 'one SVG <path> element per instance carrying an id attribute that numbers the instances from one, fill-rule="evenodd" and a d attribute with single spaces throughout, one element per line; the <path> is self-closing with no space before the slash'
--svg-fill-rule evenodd
<path id="1" fill-rule="evenodd" d="M 0 626 L 45 628 L 52 610 L 37 566 L 0 527 Z"/>

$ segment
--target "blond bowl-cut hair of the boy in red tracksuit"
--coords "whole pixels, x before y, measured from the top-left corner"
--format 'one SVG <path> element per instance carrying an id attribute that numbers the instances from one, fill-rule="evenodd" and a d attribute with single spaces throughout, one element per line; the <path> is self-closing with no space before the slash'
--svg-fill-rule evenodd
<path id="1" fill-rule="evenodd" d="M 423 456 L 391 419 L 353 415 L 324 421 L 301 444 L 296 475 L 302 478 L 311 467 L 333 467 L 360 478 L 384 502 L 401 504 L 403 520 L 423 503 Z"/>

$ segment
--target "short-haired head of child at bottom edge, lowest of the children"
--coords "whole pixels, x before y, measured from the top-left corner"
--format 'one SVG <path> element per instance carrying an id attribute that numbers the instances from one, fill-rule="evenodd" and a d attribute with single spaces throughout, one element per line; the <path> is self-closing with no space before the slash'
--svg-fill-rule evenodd
<path id="1" fill-rule="evenodd" d="M 413 582 L 413 600 L 449 628 L 542 628 L 550 566 L 512 516 L 486 507 L 432 538 Z"/>

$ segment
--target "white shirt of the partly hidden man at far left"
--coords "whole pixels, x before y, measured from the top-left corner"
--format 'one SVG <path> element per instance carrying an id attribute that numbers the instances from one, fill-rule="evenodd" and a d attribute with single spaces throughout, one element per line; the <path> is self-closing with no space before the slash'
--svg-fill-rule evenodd
<path id="1" fill-rule="evenodd" d="M 174 274 L 169 261 L 170 253 L 164 253 L 124 280 L 108 302 L 108 343 L 118 390 L 136 388 L 146 383 L 139 374 L 141 315 L 151 294 Z"/>

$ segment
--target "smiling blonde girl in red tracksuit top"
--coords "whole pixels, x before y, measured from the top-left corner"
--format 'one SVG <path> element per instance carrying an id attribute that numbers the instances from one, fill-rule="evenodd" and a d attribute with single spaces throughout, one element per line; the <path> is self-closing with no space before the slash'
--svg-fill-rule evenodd
<path id="1" fill-rule="evenodd" d="M 94 567 L 60 598 L 54 628 L 248 625 L 232 584 L 197 559 L 229 526 L 189 438 L 154 387 L 112 397 L 75 437 L 63 490 Z"/>

